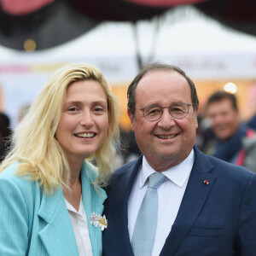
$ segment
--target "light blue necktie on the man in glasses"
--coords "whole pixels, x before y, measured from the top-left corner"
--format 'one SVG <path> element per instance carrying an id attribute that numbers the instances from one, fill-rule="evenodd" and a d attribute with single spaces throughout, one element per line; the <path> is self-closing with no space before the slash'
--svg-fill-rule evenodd
<path id="1" fill-rule="evenodd" d="M 131 239 L 131 247 L 135 256 L 150 256 L 152 254 L 158 214 L 157 188 L 165 178 L 166 176 L 160 172 L 149 176 L 148 190 L 137 214 Z"/>

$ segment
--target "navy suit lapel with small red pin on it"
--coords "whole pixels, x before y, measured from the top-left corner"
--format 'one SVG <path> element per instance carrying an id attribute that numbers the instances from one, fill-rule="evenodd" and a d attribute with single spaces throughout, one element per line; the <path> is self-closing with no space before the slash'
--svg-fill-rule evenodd
<path id="1" fill-rule="evenodd" d="M 183 201 L 177 212 L 177 218 L 172 225 L 172 231 L 166 238 L 165 246 L 160 255 L 173 255 L 177 251 L 177 248 L 188 236 L 189 230 L 195 224 L 195 220 L 207 201 L 216 179 L 215 176 L 209 173 L 213 168 L 210 160 L 201 154 L 197 148 L 194 149 L 195 162 L 183 195 Z"/>

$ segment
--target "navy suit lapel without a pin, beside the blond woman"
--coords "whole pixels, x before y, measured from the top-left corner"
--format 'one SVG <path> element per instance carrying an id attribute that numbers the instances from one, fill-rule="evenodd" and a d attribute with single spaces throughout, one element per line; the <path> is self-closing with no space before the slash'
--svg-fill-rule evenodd
<path id="1" fill-rule="evenodd" d="M 113 224 L 115 225 L 116 235 L 119 239 L 119 244 L 122 247 L 123 255 L 133 255 L 129 230 L 128 230 L 128 199 L 131 194 L 134 179 L 137 176 L 137 171 L 142 165 L 143 156 L 135 163 L 132 163 L 125 172 L 119 175 L 124 177 L 119 178 L 119 183 L 116 184 L 116 210 L 113 212 Z"/>

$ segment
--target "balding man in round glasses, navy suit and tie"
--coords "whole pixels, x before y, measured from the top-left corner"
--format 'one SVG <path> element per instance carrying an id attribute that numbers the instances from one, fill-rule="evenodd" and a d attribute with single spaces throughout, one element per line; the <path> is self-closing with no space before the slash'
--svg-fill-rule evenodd
<path id="1" fill-rule="evenodd" d="M 149 64 L 131 82 L 143 155 L 113 173 L 104 256 L 256 255 L 256 174 L 194 146 L 198 104 L 178 67 Z"/>

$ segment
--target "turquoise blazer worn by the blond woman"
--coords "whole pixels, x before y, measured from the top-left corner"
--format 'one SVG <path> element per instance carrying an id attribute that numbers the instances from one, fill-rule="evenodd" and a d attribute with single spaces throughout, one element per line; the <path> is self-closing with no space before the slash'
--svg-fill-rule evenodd
<path id="1" fill-rule="evenodd" d="M 62 189 L 46 195 L 37 181 L 15 175 L 15 163 L 0 173 L 0 255 L 79 255 Z M 102 255 L 102 230 L 90 224 L 90 213 L 102 214 L 107 195 L 93 186 L 96 169 L 84 162 L 82 195 L 94 256 Z"/>

